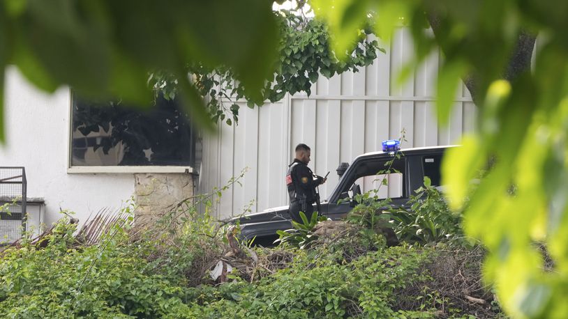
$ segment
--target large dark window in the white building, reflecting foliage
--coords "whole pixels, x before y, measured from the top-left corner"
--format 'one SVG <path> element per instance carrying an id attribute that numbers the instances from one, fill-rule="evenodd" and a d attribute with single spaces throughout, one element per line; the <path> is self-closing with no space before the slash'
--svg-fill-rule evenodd
<path id="1" fill-rule="evenodd" d="M 72 166 L 194 166 L 195 134 L 176 100 L 144 107 L 73 97 Z"/>

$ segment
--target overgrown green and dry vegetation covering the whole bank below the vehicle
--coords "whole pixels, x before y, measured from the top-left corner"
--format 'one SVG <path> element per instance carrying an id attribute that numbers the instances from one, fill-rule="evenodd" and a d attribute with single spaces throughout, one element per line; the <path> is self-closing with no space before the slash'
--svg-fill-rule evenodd
<path id="1" fill-rule="evenodd" d="M 425 185 L 414 212 L 405 214 L 438 220 L 434 211 L 447 209 L 435 192 Z M 388 247 L 382 227 L 317 223 L 314 215 L 295 225 L 304 239 L 291 237 L 270 249 L 248 247 L 237 242 L 238 228 L 211 218 L 212 203 L 213 196 L 190 199 L 151 223 L 134 219 L 130 206 L 78 231 L 77 221 L 66 215 L 46 235 L 24 238 L 1 253 L 0 316 L 502 316 L 491 288 L 481 284 L 479 245 L 464 248 L 445 235 L 409 237 L 416 229 L 399 219 L 391 227 L 401 244 Z M 197 205 L 206 213 L 198 214 Z M 458 233 L 457 221 L 444 217 L 428 231 Z M 308 235 L 309 244 L 302 242 Z M 211 272 L 216 266 L 218 274 Z"/>

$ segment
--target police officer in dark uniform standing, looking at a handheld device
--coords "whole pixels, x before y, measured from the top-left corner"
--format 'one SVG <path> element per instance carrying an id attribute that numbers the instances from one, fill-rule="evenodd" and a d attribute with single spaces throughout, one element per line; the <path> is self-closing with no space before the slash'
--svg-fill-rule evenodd
<path id="1" fill-rule="evenodd" d="M 308 219 L 313 213 L 313 203 L 315 203 L 315 187 L 322 185 L 327 178 L 316 176 L 308 167 L 310 162 L 311 150 L 306 144 L 300 143 L 296 146 L 296 158 L 292 164 L 288 165 L 286 174 L 286 185 L 290 195 L 290 217 L 292 220 L 301 223 L 300 213 L 304 212 Z M 321 213 L 321 212 L 320 212 Z"/>

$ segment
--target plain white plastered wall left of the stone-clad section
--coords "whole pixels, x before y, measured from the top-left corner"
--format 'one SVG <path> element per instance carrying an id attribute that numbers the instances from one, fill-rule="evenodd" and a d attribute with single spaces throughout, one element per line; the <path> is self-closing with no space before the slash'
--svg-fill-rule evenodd
<path id="1" fill-rule="evenodd" d="M 132 173 L 68 174 L 70 94 L 60 88 L 42 93 L 14 68 L 6 73 L 4 131 L 0 166 L 25 166 L 28 197 L 45 199 L 45 223 L 59 219 L 59 208 L 80 221 L 103 208 L 120 208 L 134 193 Z"/>

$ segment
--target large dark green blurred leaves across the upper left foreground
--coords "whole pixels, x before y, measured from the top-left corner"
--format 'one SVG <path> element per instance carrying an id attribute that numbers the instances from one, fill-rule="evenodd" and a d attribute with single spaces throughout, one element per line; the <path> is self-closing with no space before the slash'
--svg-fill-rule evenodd
<path id="1" fill-rule="evenodd" d="M 276 60 L 270 1 L 4 1 L 0 68 L 15 64 L 48 92 L 70 86 L 87 98 L 147 104 L 149 72 L 186 74 L 186 65 L 223 66 L 244 90 L 262 96 Z M 182 86 L 195 122 L 204 103 Z M 1 127 L 0 127 L 1 128 Z M 0 135 L 1 137 L 1 135 Z"/>

